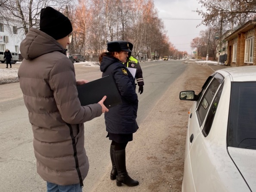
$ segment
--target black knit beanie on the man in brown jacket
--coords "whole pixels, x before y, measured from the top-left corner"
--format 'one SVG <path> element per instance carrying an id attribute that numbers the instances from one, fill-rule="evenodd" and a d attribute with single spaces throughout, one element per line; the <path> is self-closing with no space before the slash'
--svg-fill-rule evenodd
<path id="1" fill-rule="evenodd" d="M 69 18 L 61 12 L 47 6 L 41 9 L 40 31 L 50 35 L 54 39 L 62 39 L 72 32 L 73 28 Z"/>

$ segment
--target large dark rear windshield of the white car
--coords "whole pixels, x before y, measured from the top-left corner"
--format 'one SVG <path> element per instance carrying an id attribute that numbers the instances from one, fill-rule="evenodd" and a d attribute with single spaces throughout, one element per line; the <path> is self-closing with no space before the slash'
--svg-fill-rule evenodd
<path id="1" fill-rule="evenodd" d="M 234 82 L 228 121 L 228 146 L 256 149 L 256 82 Z"/>

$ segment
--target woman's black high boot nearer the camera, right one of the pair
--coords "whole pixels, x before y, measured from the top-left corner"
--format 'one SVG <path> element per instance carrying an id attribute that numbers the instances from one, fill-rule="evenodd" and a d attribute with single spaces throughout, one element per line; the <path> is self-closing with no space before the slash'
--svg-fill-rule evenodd
<path id="1" fill-rule="evenodd" d="M 114 151 L 114 160 L 118 173 L 118 176 L 116 177 L 116 185 L 122 186 L 122 183 L 130 187 L 139 185 L 139 182 L 131 179 L 131 177 L 127 173 L 125 163 L 125 149 L 120 151 Z"/>

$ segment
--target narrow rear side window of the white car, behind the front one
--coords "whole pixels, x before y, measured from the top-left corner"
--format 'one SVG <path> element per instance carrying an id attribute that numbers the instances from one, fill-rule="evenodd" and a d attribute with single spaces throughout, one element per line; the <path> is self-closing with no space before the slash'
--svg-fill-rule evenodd
<path id="1" fill-rule="evenodd" d="M 219 99 L 221 97 L 222 90 L 223 90 L 223 85 L 224 85 L 224 83 L 222 84 L 222 86 L 219 88 L 217 94 L 215 95 L 215 98 L 213 99 L 212 105 L 211 105 L 208 115 L 206 117 L 206 121 L 205 121 L 205 124 L 203 127 L 203 135 L 205 137 L 209 134 L 209 132 L 212 128 L 212 122 L 215 117 L 216 110 L 218 108 Z"/>

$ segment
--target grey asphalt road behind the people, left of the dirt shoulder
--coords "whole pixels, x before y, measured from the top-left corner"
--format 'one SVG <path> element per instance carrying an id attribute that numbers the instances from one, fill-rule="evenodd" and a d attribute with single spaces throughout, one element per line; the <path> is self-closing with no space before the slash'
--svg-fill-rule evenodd
<path id="1" fill-rule="evenodd" d="M 184 72 L 187 64 L 169 60 L 141 63 L 141 67 L 145 86 L 144 93 L 138 95 L 139 126 L 170 85 Z M 101 77 L 99 67 L 75 65 L 75 71 L 77 79 L 92 81 Z M 46 183 L 36 173 L 33 134 L 19 83 L 0 85 L 0 90 L 0 192 L 46 191 Z M 84 192 L 92 192 L 100 185 L 99 178 L 110 171 L 110 141 L 105 138 L 103 115 L 84 125 L 85 149 L 90 161 L 89 173 L 84 180 Z M 143 137 L 143 130 L 140 130 L 140 135 Z M 140 136 L 137 136 L 139 139 Z"/>

